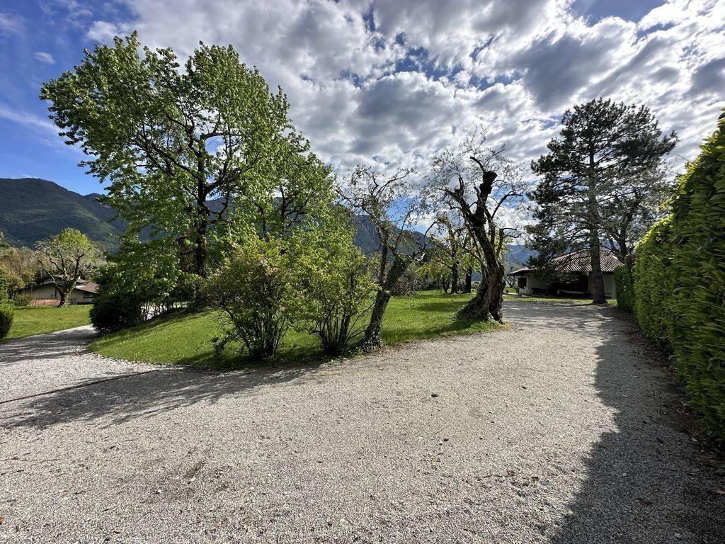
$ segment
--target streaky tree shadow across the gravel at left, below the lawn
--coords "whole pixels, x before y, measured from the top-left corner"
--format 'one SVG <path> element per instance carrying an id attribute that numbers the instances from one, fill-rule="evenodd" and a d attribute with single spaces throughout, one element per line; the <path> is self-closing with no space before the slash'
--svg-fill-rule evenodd
<path id="1" fill-rule="evenodd" d="M 104 420 L 104 426 L 158 415 L 196 403 L 218 403 L 235 397 L 240 403 L 260 387 L 305 378 L 318 366 L 259 367 L 236 372 L 201 372 L 159 368 L 92 387 L 61 390 L 22 401 L 12 413 L 4 410 L 0 426 L 46 429 L 78 421 Z M 6 407 L 7 408 L 7 407 Z"/>

